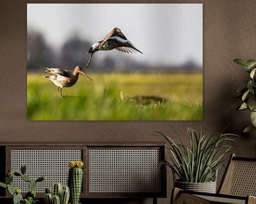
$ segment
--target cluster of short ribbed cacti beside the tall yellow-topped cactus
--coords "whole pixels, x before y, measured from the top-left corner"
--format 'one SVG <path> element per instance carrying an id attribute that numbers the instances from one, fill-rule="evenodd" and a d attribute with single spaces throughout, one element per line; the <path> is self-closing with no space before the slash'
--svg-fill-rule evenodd
<path id="1" fill-rule="evenodd" d="M 53 192 L 46 188 L 45 203 L 46 204 L 68 204 L 70 198 L 70 189 L 61 183 L 54 183 Z"/>

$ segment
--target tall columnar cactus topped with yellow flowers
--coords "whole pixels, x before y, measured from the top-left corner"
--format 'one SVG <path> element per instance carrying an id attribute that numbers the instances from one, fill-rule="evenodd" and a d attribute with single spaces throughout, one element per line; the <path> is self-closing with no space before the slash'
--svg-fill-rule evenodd
<path id="1" fill-rule="evenodd" d="M 70 188 L 70 203 L 78 204 L 82 189 L 82 161 L 69 162 L 68 186 Z"/>

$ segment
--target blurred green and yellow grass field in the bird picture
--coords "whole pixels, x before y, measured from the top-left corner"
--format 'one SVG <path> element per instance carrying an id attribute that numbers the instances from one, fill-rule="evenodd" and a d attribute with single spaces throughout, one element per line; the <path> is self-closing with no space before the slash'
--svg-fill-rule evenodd
<path id="1" fill-rule="evenodd" d="M 93 81 L 80 76 L 63 89 L 64 100 L 42 76 L 28 74 L 28 120 L 203 119 L 202 74 L 91 74 Z"/>

